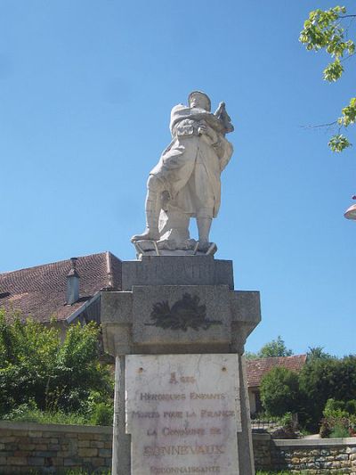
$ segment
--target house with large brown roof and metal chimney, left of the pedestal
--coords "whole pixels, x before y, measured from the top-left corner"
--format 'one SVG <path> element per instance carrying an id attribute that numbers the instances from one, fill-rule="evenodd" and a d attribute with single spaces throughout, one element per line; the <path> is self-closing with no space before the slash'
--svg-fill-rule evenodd
<path id="1" fill-rule="evenodd" d="M 103 290 L 121 290 L 121 260 L 110 252 L 0 274 L 0 308 L 65 332 L 69 323 L 100 323 Z"/>

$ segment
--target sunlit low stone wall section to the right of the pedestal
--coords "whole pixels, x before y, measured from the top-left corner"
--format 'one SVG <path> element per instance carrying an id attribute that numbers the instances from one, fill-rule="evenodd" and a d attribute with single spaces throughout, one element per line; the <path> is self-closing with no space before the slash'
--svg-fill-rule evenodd
<path id="1" fill-rule="evenodd" d="M 356 438 L 273 440 L 254 434 L 256 470 L 356 475 Z"/>

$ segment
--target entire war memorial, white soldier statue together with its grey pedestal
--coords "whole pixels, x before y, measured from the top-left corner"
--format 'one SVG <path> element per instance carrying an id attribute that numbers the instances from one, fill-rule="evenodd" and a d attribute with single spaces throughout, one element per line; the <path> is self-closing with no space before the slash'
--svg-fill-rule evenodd
<path id="1" fill-rule="evenodd" d="M 146 229 L 132 238 L 122 291 L 103 292 L 116 358 L 113 475 L 255 473 L 244 346 L 258 291 L 235 291 L 209 232 L 233 131 L 221 102 L 194 91 L 171 113 L 172 142 L 150 172 Z M 198 239 L 190 237 L 196 218 Z"/>

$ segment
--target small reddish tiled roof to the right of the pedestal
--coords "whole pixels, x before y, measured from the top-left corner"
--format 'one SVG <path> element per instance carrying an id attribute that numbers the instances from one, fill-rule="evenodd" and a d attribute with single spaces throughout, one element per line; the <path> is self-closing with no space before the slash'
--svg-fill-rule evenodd
<path id="1" fill-rule="evenodd" d="M 274 358 L 259 358 L 247 360 L 247 386 L 258 387 L 264 374 L 276 366 L 299 372 L 306 361 L 306 355 L 278 356 Z"/>

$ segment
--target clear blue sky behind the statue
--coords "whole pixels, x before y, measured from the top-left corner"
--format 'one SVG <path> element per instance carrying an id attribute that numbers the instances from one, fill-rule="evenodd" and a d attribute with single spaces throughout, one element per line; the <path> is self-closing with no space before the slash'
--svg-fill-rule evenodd
<path id="1" fill-rule="evenodd" d="M 354 62 L 326 84 L 326 55 L 298 43 L 308 12 L 334 4 L 0 0 L 0 272 L 134 258 L 170 110 L 201 89 L 235 125 L 212 239 L 236 289 L 261 291 L 247 349 L 281 335 L 295 353 L 355 353 L 354 147 L 333 155 L 301 127 L 355 95 Z"/>

